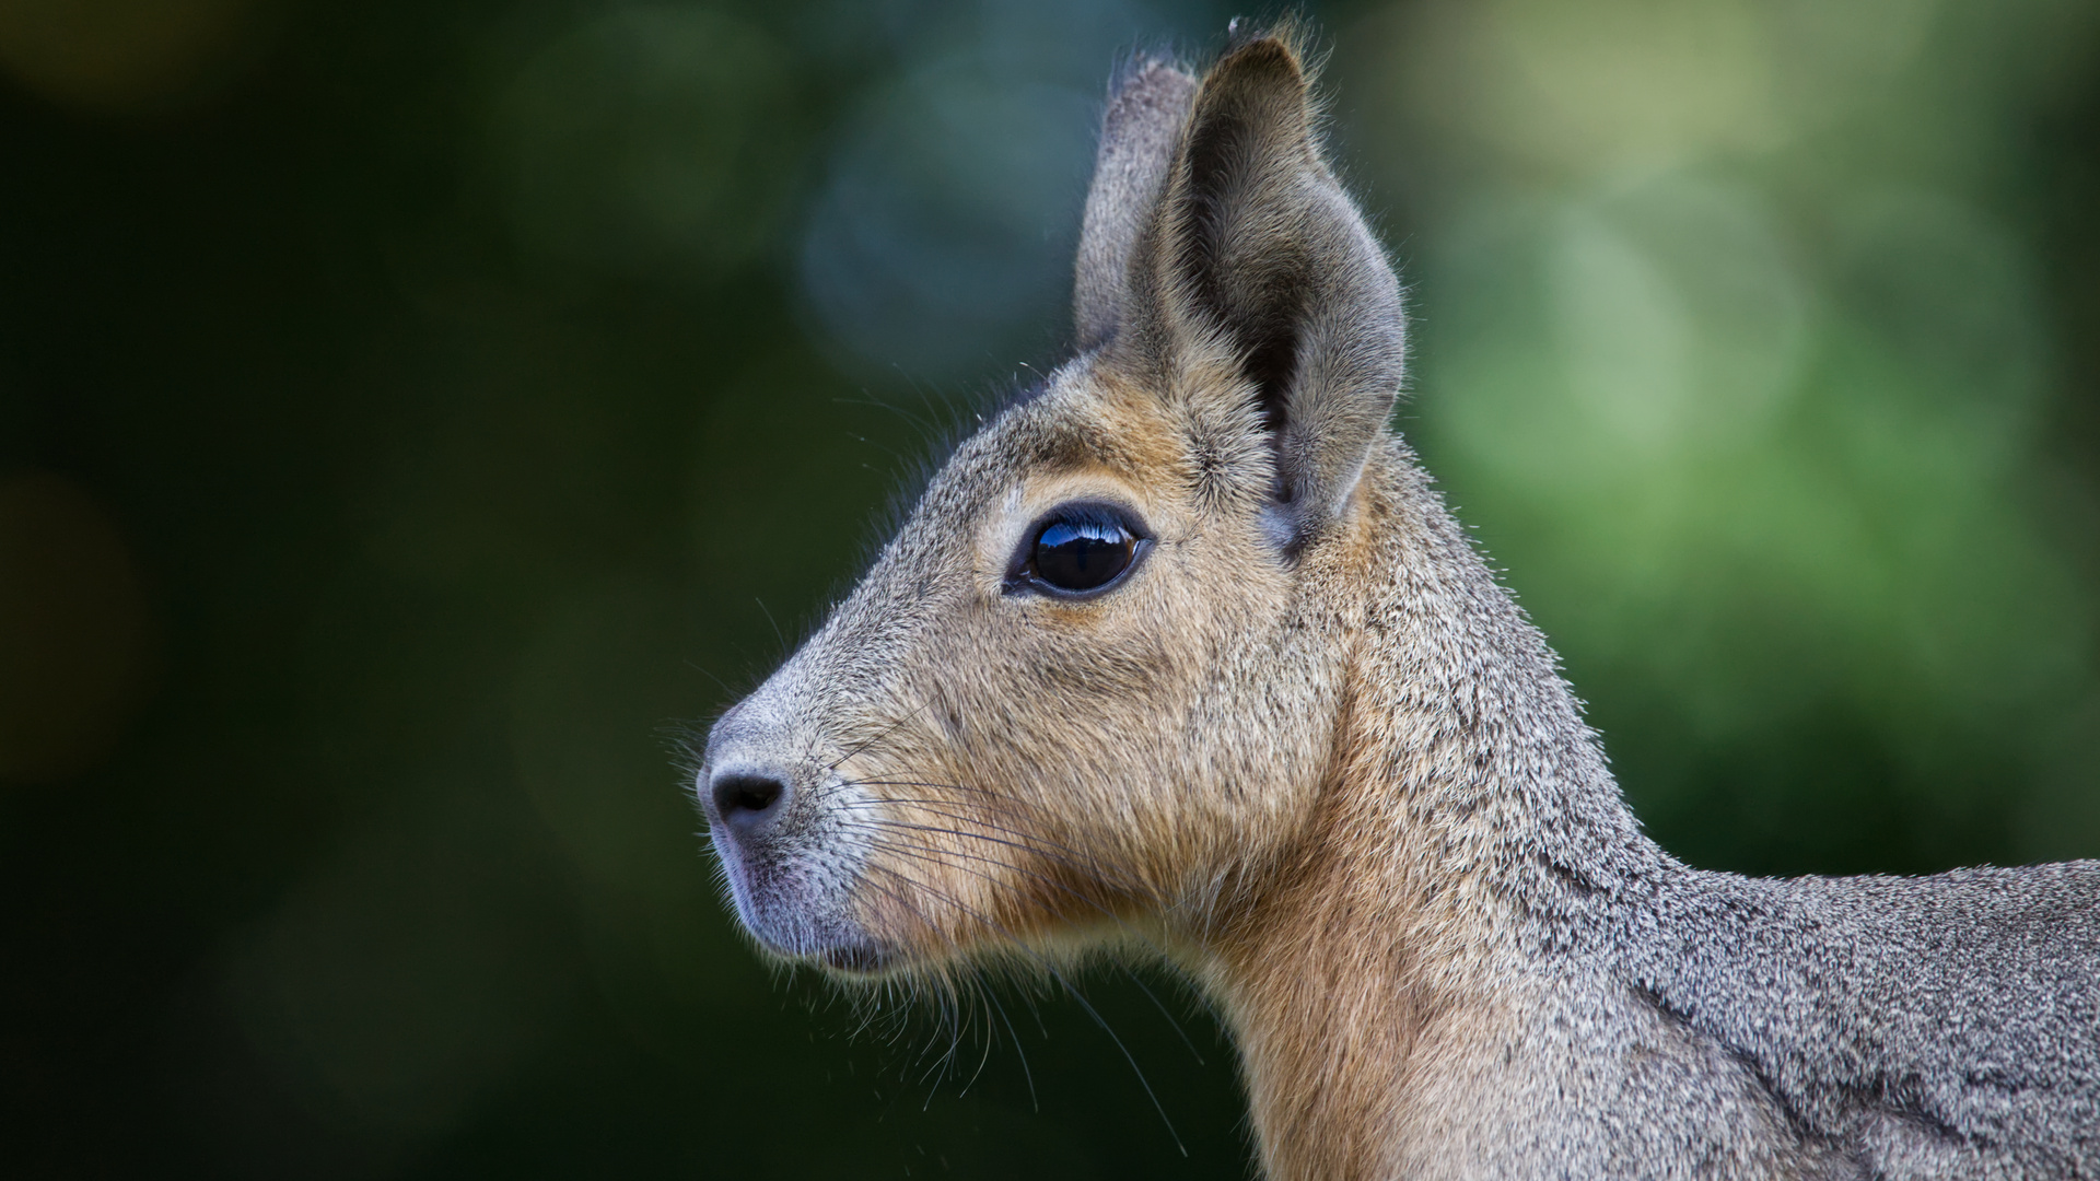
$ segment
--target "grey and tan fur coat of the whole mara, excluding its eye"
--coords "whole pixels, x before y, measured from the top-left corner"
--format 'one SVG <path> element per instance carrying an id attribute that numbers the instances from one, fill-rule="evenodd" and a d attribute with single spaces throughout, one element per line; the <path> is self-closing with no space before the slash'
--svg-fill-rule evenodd
<path id="1" fill-rule="evenodd" d="M 2100 1177 L 2100 864 L 1756 880 L 1640 832 L 1384 427 L 1399 286 L 1302 63 L 1126 71 L 1079 355 L 716 723 L 754 939 L 930 988 L 1166 954 L 1279 1181 Z M 1031 530 L 1082 502 L 1149 548 L 1060 597 Z"/>

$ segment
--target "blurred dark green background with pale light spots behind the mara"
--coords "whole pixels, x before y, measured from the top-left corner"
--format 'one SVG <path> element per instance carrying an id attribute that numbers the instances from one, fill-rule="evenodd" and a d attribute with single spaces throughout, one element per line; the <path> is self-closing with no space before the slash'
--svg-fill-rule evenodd
<path id="1" fill-rule="evenodd" d="M 666 748 L 1058 359 L 1111 61 L 1231 15 L 0 0 L 8 1173 L 1245 1175 L 1172 981 L 1197 1053 L 1082 986 L 1186 1158 L 1069 998 L 760 965 Z M 1655 836 L 2100 855 L 2100 4 L 1312 15 L 1399 424 Z"/>

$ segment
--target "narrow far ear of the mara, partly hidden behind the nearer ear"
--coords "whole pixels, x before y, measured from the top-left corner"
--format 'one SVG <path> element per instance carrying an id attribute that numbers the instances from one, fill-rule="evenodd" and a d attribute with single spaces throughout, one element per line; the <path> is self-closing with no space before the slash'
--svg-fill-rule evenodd
<path id="1" fill-rule="evenodd" d="M 1166 61 L 1140 57 L 1109 88 L 1073 275 L 1079 351 L 1105 345 L 1124 319 L 1130 256 L 1159 206 L 1195 86 L 1195 78 Z"/>

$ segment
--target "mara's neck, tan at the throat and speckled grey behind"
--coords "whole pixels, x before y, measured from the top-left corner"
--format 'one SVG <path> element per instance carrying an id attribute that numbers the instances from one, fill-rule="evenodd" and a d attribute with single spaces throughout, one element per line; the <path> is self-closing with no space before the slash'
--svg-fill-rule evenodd
<path id="1" fill-rule="evenodd" d="M 1462 1116 L 1453 1080 L 1491 1078 L 1516 990 L 1670 866 L 1409 456 L 1365 485 L 1336 578 L 1376 590 L 1319 809 L 1199 969 L 1277 1181 L 1378 1177 L 1418 1152 Z"/>

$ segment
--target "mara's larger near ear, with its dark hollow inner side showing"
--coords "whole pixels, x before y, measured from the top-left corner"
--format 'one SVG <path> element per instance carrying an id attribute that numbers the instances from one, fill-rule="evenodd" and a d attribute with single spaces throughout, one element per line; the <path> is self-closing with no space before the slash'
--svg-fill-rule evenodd
<path id="1" fill-rule="evenodd" d="M 1292 34 L 1205 76 L 1132 261 L 1153 372 L 1237 366 L 1275 454 L 1273 540 L 1296 553 L 1348 502 L 1407 357 L 1399 279 L 1321 160 Z M 1147 357 L 1134 357 L 1147 364 Z"/>

